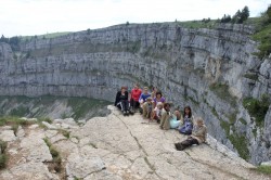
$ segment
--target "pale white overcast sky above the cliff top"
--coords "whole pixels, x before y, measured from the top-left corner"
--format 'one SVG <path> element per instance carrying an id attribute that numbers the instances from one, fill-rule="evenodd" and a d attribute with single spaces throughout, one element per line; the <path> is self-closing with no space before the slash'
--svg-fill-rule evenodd
<path id="1" fill-rule="evenodd" d="M 221 18 L 245 5 L 250 16 L 271 0 L 0 0 L 0 36 L 78 31 L 116 24 Z"/>

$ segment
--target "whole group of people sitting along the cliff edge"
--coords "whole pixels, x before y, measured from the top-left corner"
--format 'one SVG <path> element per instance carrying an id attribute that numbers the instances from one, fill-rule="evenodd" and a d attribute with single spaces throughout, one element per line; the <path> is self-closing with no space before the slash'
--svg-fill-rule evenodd
<path id="1" fill-rule="evenodd" d="M 125 116 L 133 115 L 139 110 L 144 119 L 149 119 L 149 123 L 156 120 L 160 129 L 176 129 L 180 133 L 189 136 L 186 140 L 175 144 L 179 151 L 206 141 L 207 129 L 203 118 L 194 118 L 190 106 L 184 107 L 183 114 L 180 110 L 171 113 L 171 103 L 166 102 L 162 92 L 155 87 L 152 92 L 149 92 L 147 87 L 144 87 L 142 91 L 136 83 L 130 94 L 126 87 L 121 87 L 116 94 L 115 106 Z"/>

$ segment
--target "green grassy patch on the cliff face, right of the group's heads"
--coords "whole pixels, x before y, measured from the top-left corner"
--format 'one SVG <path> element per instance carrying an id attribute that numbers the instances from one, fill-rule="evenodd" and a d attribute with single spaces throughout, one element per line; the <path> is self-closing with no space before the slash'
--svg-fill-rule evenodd
<path id="1" fill-rule="evenodd" d="M 221 100 L 227 101 L 231 104 L 232 107 L 236 107 L 236 100 L 235 98 L 230 93 L 229 86 L 224 83 L 212 83 L 210 87 L 210 90 L 215 92 L 218 98 Z"/>

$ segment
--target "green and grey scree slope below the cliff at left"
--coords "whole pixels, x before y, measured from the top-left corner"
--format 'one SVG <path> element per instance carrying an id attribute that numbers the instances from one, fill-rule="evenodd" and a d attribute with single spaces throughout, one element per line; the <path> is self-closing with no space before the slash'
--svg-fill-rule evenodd
<path id="1" fill-rule="evenodd" d="M 107 101 L 100 101 L 89 98 L 66 98 L 54 95 L 42 95 L 39 98 L 28 98 L 24 95 L 0 97 L 0 119 L 1 116 L 5 119 L 13 118 L 13 121 L 20 120 L 18 117 L 36 117 L 38 118 L 39 123 L 48 121 L 51 124 L 52 120 L 46 116 L 49 113 L 48 111 L 51 111 L 51 106 L 56 102 L 62 102 L 65 105 L 68 104 L 73 110 L 75 110 L 73 112 L 68 108 L 68 112 L 64 112 L 62 114 L 60 113 L 61 118 L 70 117 L 70 115 L 74 113 L 73 117 L 76 117 L 76 120 L 78 118 L 85 118 L 85 115 L 88 113 L 90 113 L 90 115 L 86 118 L 91 118 L 96 115 L 105 115 L 105 112 L 103 113 L 98 110 L 104 108 L 106 105 L 112 104 Z M 3 119 L 0 120 L 0 126 L 1 124 L 5 124 L 4 121 Z"/>

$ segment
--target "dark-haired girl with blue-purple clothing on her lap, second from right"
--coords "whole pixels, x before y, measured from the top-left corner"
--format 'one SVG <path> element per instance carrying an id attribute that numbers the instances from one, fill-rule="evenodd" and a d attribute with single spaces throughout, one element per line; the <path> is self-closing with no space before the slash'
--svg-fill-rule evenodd
<path id="1" fill-rule="evenodd" d="M 182 120 L 182 126 L 180 126 L 179 132 L 183 134 L 191 134 L 193 129 L 193 116 L 190 106 L 184 107 Z"/>

